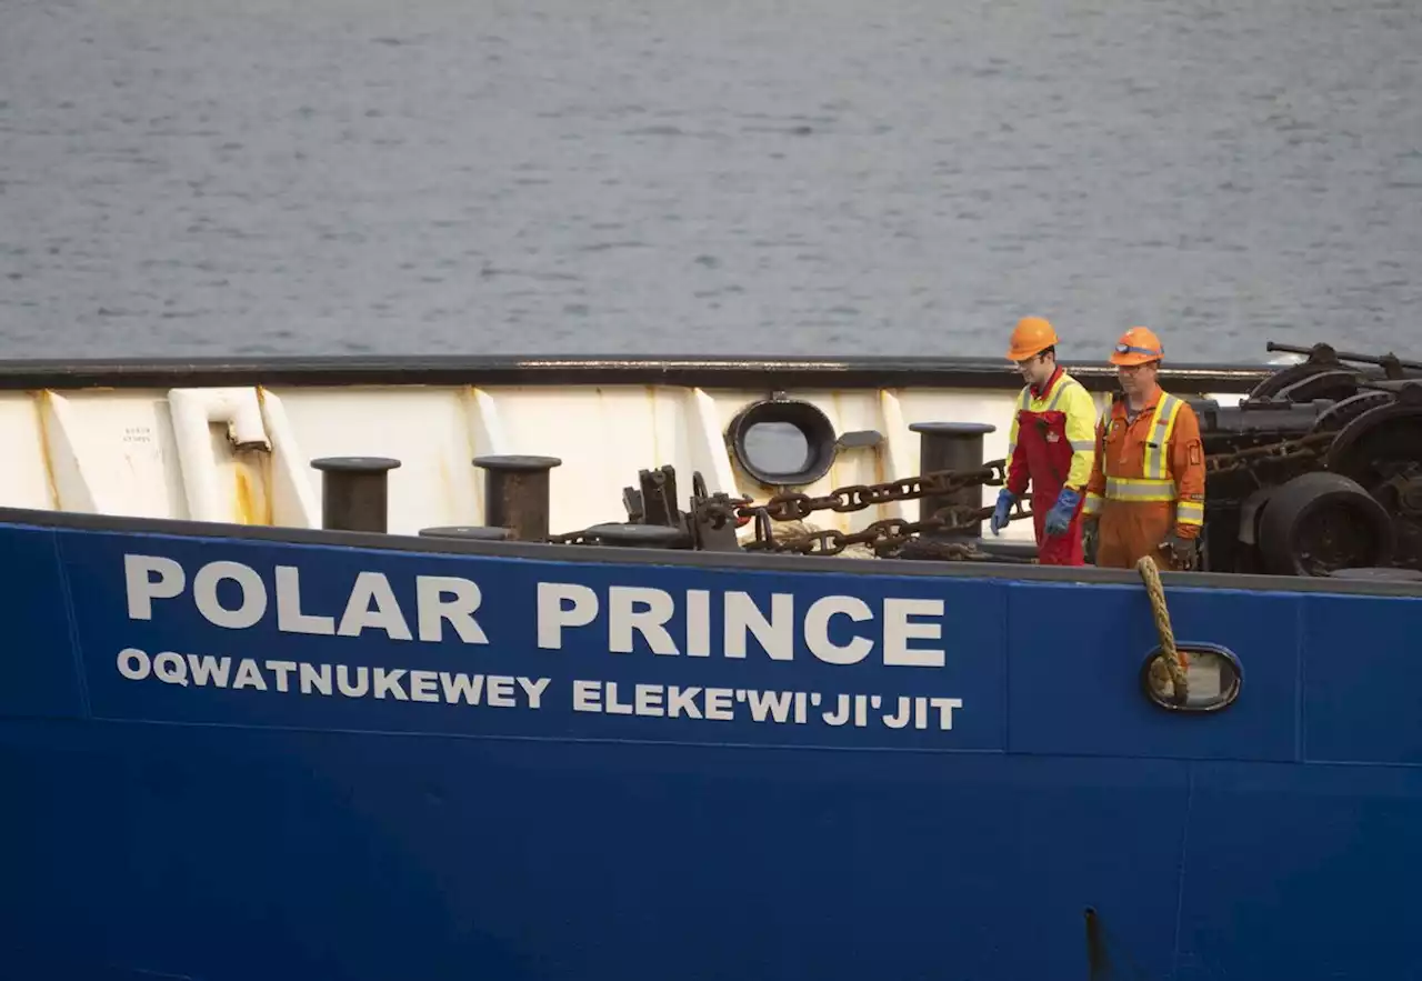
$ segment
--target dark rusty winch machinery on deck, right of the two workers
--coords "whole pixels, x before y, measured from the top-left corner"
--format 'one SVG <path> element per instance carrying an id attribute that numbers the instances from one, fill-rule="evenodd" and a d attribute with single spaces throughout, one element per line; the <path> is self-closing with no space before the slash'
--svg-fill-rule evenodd
<path id="1" fill-rule="evenodd" d="M 1422 364 L 1328 344 L 1237 407 L 1194 401 L 1206 569 L 1330 576 L 1422 569 Z"/>

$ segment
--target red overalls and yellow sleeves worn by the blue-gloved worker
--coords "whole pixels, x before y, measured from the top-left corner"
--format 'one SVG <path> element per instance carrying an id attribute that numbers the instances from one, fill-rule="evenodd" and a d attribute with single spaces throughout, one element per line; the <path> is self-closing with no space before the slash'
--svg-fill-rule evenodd
<path id="1" fill-rule="evenodd" d="M 1032 485 L 1037 562 L 1042 566 L 1085 566 L 1081 509 L 1076 503 L 1065 535 L 1047 535 L 1047 512 L 1064 486 L 1086 496 L 1096 458 L 1096 402 L 1079 381 L 1059 367 L 1047 384 L 1022 388 L 1007 436 L 1007 489 L 1018 499 Z"/>

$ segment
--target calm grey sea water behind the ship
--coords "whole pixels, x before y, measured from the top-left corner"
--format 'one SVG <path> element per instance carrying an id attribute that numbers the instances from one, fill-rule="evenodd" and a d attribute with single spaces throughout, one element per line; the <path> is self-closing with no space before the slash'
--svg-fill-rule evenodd
<path id="1" fill-rule="evenodd" d="M 1422 357 L 1412 0 L 0 1 L 0 357 Z"/>

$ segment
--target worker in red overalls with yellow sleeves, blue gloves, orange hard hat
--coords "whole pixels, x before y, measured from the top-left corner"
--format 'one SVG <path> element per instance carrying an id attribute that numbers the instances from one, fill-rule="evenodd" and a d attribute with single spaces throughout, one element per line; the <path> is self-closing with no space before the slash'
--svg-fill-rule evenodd
<path id="1" fill-rule="evenodd" d="M 1031 483 L 1037 562 L 1084 566 L 1081 509 L 1096 452 L 1096 402 L 1057 364 L 1057 331 L 1041 317 L 1018 321 L 1007 358 L 1027 387 L 1007 435 L 1007 486 L 997 495 L 990 527 L 1001 533 Z"/>

